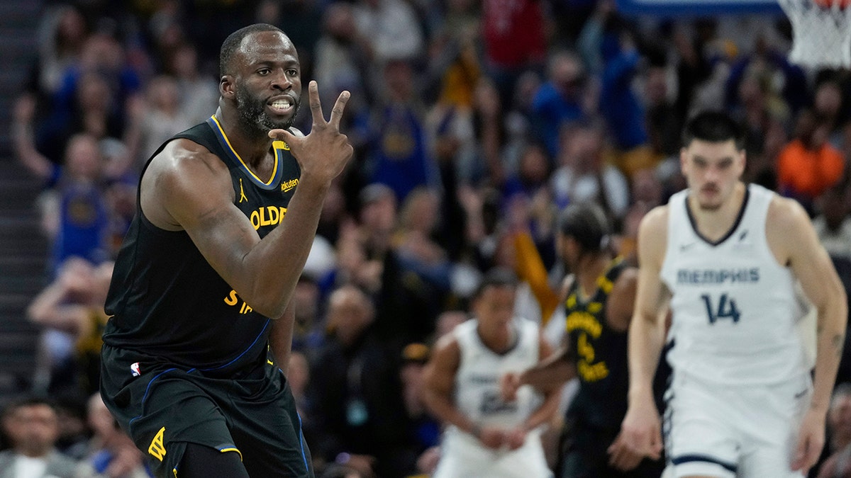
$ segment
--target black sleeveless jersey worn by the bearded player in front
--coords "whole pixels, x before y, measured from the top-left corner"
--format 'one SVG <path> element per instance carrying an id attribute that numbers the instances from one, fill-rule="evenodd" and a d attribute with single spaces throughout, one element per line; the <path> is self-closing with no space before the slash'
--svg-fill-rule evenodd
<path id="1" fill-rule="evenodd" d="M 172 139 L 178 138 L 203 145 L 226 163 L 234 204 L 260 237 L 281 222 L 300 176 L 298 163 L 283 141 L 273 144 L 275 166 L 271 179 L 264 182 L 233 150 L 215 117 Z M 136 215 L 118 253 L 106 298 L 111 318 L 104 343 L 209 373 L 231 373 L 248 364 L 265 363 L 270 319 L 252 310 L 219 276 L 186 231 L 152 225 L 139 198 L 137 193 Z"/>

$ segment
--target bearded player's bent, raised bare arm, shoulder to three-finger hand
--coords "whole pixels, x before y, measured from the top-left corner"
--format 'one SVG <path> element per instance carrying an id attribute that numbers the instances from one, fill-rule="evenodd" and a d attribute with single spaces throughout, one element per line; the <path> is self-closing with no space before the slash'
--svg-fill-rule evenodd
<path id="1" fill-rule="evenodd" d="M 151 162 L 141 182 L 142 210 L 163 229 L 186 230 L 209 264 L 254 310 L 283 316 L 310 252 L 331 180 L 351 157 L 351 145 L 339 132 L 347 98 L 347 92 L 340 95 L 330 122 L 325 122 L 316 83 L 311 82 L 311 134 L 270 132 L 286 140 L 301 177 L 286 216 L 262 241 L 233 204 L 224 163 L 186 139 L 173 141 Z"/>

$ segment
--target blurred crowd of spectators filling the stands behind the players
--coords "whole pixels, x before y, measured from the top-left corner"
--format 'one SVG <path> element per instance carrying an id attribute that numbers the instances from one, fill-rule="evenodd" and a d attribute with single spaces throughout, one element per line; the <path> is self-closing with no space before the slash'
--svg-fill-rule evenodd
<path id="1" fill-rule="evenodd" d="M 465 320 L 484 271 L 529 260 L 519 244 L 563 276 L 554 220 L 568 203 L 598 202 L 631 258 L 643 214 L 683 188 L 679 131 L 693 111 L 723 107 L 745 125 L 745 180 L 802 202 L 851 289 L 851 77 L 788 63 L 783 17 L 634 20 L 614 0 L 51 2 L 12 138 L 43 179 L 50 283 L 27 313 L 44 327 L 32 391 L 54 400 L 9 402 L 11 452 L 31 457 L 15 426 L 40 420 L 56 429 L 39 457 L 145 474 L 89 399 L 103 276 L 140 168 L 215 111 L 218 48 L 254 22 L 288 34 L 324 105 L 351 91 L 341 129 L 355 155 L 294 293 L 288 373 L 317 475 L 427 475 L 440 435 L 421 399 L 429 345 Z M 545 323 L 552 304 L 533 289 L 518 314 Z M 837 394 L 831 466 L 848 467 L 848 387 Z"/>

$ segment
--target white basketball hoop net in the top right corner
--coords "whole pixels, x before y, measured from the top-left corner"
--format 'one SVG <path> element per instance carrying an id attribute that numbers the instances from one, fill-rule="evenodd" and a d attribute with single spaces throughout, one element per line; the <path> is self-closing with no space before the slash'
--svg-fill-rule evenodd
<path id="1" fill-rule="evenodd" d="M 851 66 L 848 0 L 779 1 L 792 24 L 792 63 L 816 68 Z"/>

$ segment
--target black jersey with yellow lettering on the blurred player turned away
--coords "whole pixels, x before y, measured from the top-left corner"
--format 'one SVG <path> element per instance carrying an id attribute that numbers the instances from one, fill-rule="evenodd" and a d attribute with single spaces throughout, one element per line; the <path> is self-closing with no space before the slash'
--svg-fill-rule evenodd
<path id="1" fill-rule="evenodd" d="M 608 294 L 626 267 L 622 259 L 614 259 L 597 278 L 597 292 L 591 298 L 580 299 L 579 283 L 574 281 L 564 301 L 565 327 L 580 378 L 568 415 L 595 427 L 620 427 L 626 413 L 627 334 L 609 327 L 606 321 Z"/>

